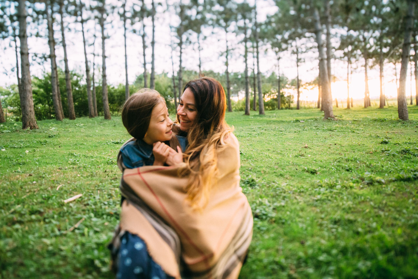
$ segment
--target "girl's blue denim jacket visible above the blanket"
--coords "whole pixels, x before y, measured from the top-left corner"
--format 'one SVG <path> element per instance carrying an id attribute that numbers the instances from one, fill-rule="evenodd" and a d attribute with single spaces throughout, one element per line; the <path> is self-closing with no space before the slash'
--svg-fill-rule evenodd
<path id="1" fill-rule="evenodd" d="M 181 151 L 186 150 L 187 139 L 176 136 L 180 143 Z M 154 164 L 153 146 L 142 139 L 130 141 L 120 148 L 124 169 L 134 169 L 140 166 L 152 166 Z"/>

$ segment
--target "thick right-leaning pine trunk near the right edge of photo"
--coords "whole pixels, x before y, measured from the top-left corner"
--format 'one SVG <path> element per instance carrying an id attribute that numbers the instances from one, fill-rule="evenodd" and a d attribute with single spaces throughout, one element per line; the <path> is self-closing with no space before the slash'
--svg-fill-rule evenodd
<path id="1" fill-rule="evenodd" d="M 403 46 L 402 46 L 402 61 L 400 66 L 400 75 L 399 75 L 399 89 L 398 89 L 398 116 L 401 120 L 408 120 L 408 106 L 406 102 L 406 71 L 408 68 L 409 61 L 409 50 L 410 50 L 410 39 L 411 39 L 411 30 L 413 26 L 414 19 L 414 8 L 415 2 L 413 0 L 408 0 L 408 14 L 405 18 L 405 33 L 403 37 Z"/>

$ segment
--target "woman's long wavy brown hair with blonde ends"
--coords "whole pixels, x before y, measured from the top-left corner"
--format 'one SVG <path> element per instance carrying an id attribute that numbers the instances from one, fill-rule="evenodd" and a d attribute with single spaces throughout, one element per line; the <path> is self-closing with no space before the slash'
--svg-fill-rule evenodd
<path id="1" fill-rule="evenodd" d="M 184 153 L 186 168 L 181 174 L 189 176 L 187 200 L 197 209 L 207 203 L 219 172 L 217 152 L 225 146 L 225 136 L 232 129 L 224 119 L 227 101 L 220 82 L 202 77 L 188 82 L 183 92 L 187 88 L 193 93 L 197 115 L 187 133 L 189 147 Z"/>

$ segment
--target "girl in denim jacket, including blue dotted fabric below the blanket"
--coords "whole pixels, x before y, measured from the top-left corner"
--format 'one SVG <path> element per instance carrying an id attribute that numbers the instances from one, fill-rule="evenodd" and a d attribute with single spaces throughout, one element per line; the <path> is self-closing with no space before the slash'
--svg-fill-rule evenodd
<path id="1" fill-rule="evenodd" d="M 186 138 L 173 137 L 173 121 L 168 116 L 166 102 L 155 90 L 144 88 L 126 100 L 122 123 L 133 138 L 120 148 L 117 161 L 122 171 L 140 166 L 171 165 L 183 160 Z M 173 153 L 171 158 L 176 158 L 173 162 L 166 161 L 170 152 Z M 117 278 L 172 278 L 153 261 L 138 235 L 121 233 L 119 241 L 118 249 L 110 246 Z"/>

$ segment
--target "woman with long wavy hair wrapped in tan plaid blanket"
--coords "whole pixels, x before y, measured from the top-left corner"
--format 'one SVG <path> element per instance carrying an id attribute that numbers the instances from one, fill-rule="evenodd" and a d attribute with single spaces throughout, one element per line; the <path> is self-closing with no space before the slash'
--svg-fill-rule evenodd
<path id="1" fill-rule="evenodd" d="M 239 186 L 239 144 L 225 123 L 225 110 L 218 81 L 188 82 L 177 109 L 177 128 L 189 142 L 185 162 L 124 171 L 120 189 L 126 200 L 113 241 L 115 247 L 122 242 L 122 278 L 130 277 L 125 271 L 145 273 L 148 268 L 139 266 L 143 261 L 132 248 L 138 239 L 150 268 L 161 268 L 159 278 L 238 277 L 251 241 L 252 214 Z M 175 152 L 170 154 L 168 161 L 175 162 Z"/>

